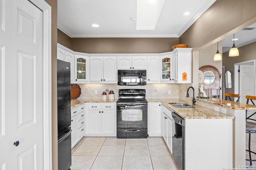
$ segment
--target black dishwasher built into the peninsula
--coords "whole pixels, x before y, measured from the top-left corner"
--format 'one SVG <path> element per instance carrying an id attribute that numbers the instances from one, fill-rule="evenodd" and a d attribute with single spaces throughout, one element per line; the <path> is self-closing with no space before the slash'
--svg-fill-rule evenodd
<path id="1" fill-rule="evenodd" d="M 179 169 L 185 169 L 185 121 L 175 112 L 172 112 L 172 156 Z"/>

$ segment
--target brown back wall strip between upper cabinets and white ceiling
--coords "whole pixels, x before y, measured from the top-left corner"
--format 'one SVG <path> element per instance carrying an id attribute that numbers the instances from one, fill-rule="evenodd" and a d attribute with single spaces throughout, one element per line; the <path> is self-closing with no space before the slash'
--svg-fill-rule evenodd
<path id="1" fill-rule="evenodd" d="M 82 53 L 164 53 L 179 38 L 72 38 L 72 50 Z"/>

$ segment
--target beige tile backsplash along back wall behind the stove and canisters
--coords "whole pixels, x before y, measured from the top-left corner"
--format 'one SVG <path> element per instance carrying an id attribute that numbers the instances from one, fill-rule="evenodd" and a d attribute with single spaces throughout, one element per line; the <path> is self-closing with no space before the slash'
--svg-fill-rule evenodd
<path id="1" fill-rule="evenodd" d="M 119 89 L 146 89 L 146 98 L 179 98 L 179 84 L 147 84 L 146 86 L 119 86 L 117 84 L 78 84 L 81 95 L 78 99 L 100 99 L 102 92 L 113 90 L 118 98 Z M 97 94 L 94 91 L 97 90 Z M 171 90 L 171 94 L 168 94 Z"/>

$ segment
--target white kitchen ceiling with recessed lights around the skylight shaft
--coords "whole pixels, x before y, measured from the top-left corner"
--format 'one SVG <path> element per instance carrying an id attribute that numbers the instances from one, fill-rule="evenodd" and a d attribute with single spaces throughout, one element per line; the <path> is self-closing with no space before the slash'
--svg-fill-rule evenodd
<path id="1" fill-rule="evenodd" d="M 136 30 L 137 0 L 58 0 L 58 29 L 70 37 L 179 37 L 215 1 L 165 0 L 155 29 Z"/>

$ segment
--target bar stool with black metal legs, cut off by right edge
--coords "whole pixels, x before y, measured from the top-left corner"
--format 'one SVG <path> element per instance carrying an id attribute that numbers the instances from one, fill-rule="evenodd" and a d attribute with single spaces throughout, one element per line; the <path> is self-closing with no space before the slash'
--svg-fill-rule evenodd
<path id="1" fill-rule="evenodd" d="M 246 104 L 249 104 L 249 101 L 251 101 L 252 104 L 255 105 L 252 100 L 256 100 L 256 96 L 245 96 L 245 98 L 247 99 Z M 252 154 L 251 154 L 251 153 L 256 154 L 256 152 L 253 152 L 251 150 L 251 134 L 256 133 L 256 123 L 247 121 L 247 119 L 256 121 L 255 119 L 250 118 L 255 114 L 256 112 L 254 112 L 252 115 L 247 117 L 247 110 L 246 110 L 246 133 L 249 134 L 249 143 L 248 143 L 249 146 L 248 146 L 248 150 L 246 149 L 246 151 L 249 152 L 249 157 L 250 157 L 250 159 L 246 159 L 246 160 L 250 161 L 250 165 L 252 165 L 252 161 L 256 161 L 256 159 L 252 159 Z"/>

